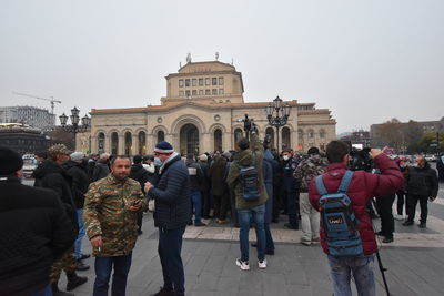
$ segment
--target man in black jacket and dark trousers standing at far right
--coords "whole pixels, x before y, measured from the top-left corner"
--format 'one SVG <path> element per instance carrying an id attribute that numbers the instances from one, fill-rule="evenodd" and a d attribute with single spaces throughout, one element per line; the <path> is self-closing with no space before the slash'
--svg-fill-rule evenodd
<path id="1" fill-rule="evenodd" d="M 416 166 L 408 169 L 406 177 L 407 184 L 407 206 L 408 218 L 403 223 L 404 226 L 413 225 L 417 201 L 421 206 L 420 227 L 425 228 L 427 223 L 427 202 L 433 202 L 437 196 L 438 182 L 436 171 L 430 167 L 430 164 L 423 156 L 415 160 Z"/>

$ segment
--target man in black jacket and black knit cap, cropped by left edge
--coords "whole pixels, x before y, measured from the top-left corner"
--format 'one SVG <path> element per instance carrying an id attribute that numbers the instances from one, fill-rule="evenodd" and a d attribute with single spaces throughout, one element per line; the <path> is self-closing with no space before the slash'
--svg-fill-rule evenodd
<path id="1" fill-rule="evenodd" d="M 75 234 L 53 191 L 20 183 L 22 165 L 17 152 L 0 147 L 0 295 L 48 295 L 53 261 Z"/>

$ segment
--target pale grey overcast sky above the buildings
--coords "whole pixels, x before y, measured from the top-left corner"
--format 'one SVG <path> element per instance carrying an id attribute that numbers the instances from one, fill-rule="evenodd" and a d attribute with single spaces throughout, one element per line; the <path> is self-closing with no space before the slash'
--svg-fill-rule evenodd
<path id="1" fill-rule="evenodd" d="M 192 61 L 242 72 L 245 102 L 330 109 L 336 132 L 444 116 L 442 0 L 2 0 L 0 105 L 160 104 Z"/>

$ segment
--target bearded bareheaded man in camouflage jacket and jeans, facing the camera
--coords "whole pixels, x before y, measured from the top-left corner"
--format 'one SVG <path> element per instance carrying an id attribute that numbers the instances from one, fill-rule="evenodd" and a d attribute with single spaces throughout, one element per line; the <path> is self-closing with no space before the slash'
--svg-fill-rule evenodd
<path id="1" fill-rule="evenodd" d="M 130 159 L 117 156 L 111 173 L 89 187 L 85 194 L 84 225 L 95 256 L 93 295 L 108 295 L 114 266 L 112 295 L 124 295 L 131 255 L 138 237 L 138 212 L 145 208 L 139 182 L 129 178 Z"/>

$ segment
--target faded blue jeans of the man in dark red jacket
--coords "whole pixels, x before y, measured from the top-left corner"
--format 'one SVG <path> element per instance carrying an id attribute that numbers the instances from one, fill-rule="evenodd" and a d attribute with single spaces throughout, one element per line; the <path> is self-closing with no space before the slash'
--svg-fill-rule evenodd
<path id="1" fill-rule="evenodd" d="M 334 296 L 352 296 L 352 289 L 350 287 L 351 273 L 353 273 L 357 295 L 375 296 L 376 288 L 373 263 L 373 254 L 343 258 L 329 255 Z"/>

